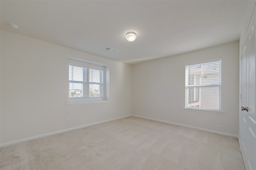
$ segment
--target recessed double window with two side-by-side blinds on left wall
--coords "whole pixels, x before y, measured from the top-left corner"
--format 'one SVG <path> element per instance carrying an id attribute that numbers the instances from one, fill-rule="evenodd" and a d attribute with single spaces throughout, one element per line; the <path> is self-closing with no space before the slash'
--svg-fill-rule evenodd
<path id="1" fill-rule="evenodd" d="M 68 103 L 105 100 L 105 66 L 70 60 L 68 64 Z"/>

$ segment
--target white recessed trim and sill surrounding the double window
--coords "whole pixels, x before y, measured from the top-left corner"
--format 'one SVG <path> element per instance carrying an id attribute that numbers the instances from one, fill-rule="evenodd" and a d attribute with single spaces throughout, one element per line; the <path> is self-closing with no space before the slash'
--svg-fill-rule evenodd
<path id="1" fill-rule="evenodd" d="M 69 58 L 68 59 L 68 67 L 69 65 L 72 64 L 74 66 L 80 66 L 80 67 L 86 67 L 86 76 L 89 78 L 89 69 L 92 68 L 96 68 L 99 70 L 103 70 L 103 97 L 102 98 L 89 98 L 89 93 L 86 92 L 86 97 L 87 98 L 70 98 L 69 96 L 69 88 L 68 88 L 68 101 L 66 103 L 66 105 L 77 105 L 77 104 L 94 104 L 94 103 L 106 103 L 106 102 L 110 102 L 109 100 L 109 67 L 104 65 L 104 64 L 100 64 L 100 63 L 95 63 L 95 62 L 91 62 L 91 61 L 86 61 L 83 59 L 77 59 L 77 58 Z M 68 71 L 69 72 L 69 71 Z M 89 80 L 89 79 L 87 79 Z M 88 82 L 89 84 L 89 82 Z M 68 80 L 68 87 L 69 87 L 69 80 Z M 87 87 L 89 88 L 89 86 Z"/>

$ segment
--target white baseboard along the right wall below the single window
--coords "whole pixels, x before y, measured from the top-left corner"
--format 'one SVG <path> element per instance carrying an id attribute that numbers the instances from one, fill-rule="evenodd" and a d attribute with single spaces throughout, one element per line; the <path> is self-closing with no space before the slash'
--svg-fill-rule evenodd
<path id="1" fill-rule="evenodd" d="M 132 116 L 140 117 L 140 118 L 144 118 L 144 119 L 149 119 L 149 120 L 154 120 L 154 121 L 160 121 L 160 122 L 169 123 L 169 124 L 172 124 L 172 125 L 178 125 L 178 126 L 182 126 L 182 127 L 188 127 L 188 128 L 191 128 L 191 129 L 197 129 L 197 130 L 206 131 L 206 132 L 210 132 L 210 133 L 216 133 L 216 134 L 219 134 L 219 135 L 224 135 L 224 136 L 228 136 L 228 137 L 234 137 L 234 138 L 238 139 L 238 135 L 234 135 L 234 134 L 231 134 L 231 133 L 224 133 L 224 132 L 219 132 L 219 131 L 213 131 L 213 130 L 204 129 L 204 128 L 201 128 L 201 127 L 184 125 L 184 124 L 180 124 L 180 123 L 175 123 L 175 122 L 171 122 L 171 121 L 164 121 L 164 120 L 161 120 L 161 119 L 154 119 L 154 118 L 151 118 L 151 117 L 145 117 L 145 116 L 140 116 L 140 115 L 132 115 Z"/>

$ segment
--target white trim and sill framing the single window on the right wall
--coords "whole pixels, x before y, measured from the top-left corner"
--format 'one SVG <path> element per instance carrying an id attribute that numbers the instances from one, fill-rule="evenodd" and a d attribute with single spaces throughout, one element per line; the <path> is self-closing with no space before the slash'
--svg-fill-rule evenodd
<path id="1" fill-rule="evenodd" d="M 221 81 L 221 77 L 222 77 L 222 69 L 221 69 L 221 58 L 217 58 L 217 59 L 210 59 L 210 60 L 204 60 L 204 61 L 196 61 L 196 62 L 192 62 L 192 63 L 187 63 L 185 66 L 188 65 L 193 65 L 193 64 L 200 64 L 200 63 L 208 63 L 208 62 L 214 62 L 214 61 L 220 61 L 220 100 L 221 100 L 221 96 L 222 96 L 222 81 Z M 186 76 L 186 70 L 185 70 L 185 76 Z M 186 78 L 185 78 L 186 79 Z M 185 85 L 186 87 L 186 85 Z M 185 96 L 185 106 L 184 106 L 184 110 L 186 111 L 196 111 L 196 112 L 202 112 L 202 113 L 213 113 L 213 114 L 223 114 L 222 111 L 222 100 L 220 101 L 220 110 L 212 110 L 212 109 L 201 109 L 201 108 L 192 108 L 192 107 L 186 107 L 186 96 Z"/>

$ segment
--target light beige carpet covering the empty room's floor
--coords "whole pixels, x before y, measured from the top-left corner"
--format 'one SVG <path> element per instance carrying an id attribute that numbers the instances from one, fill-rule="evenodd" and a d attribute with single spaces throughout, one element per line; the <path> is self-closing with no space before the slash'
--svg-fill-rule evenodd
<path id="1" fill-rule="evenodd" d="M 1 170 L 245 170 L 238 140 L 138 117 L 2 147 Z"/>

